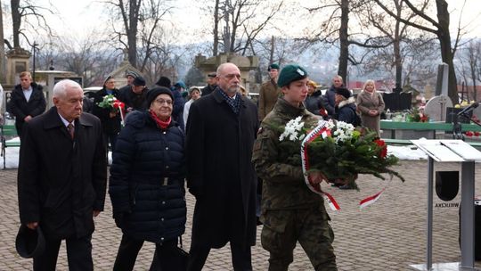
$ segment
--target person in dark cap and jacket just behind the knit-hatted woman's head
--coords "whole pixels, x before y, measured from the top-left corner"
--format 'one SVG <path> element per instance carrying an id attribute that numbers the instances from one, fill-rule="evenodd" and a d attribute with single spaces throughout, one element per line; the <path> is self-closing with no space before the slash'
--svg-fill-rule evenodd
<path id="1" fill-rule="evenodd" d="M 147 109 L 145 96 L 148 92 L 149 90 L 145 87 L 145 80 L 141 76 L 138 76 L 132 82 L 129 91 L 118 95 L 118 100 L 126 104 L 127 113 L 136 110 L 143 111 Z"/>

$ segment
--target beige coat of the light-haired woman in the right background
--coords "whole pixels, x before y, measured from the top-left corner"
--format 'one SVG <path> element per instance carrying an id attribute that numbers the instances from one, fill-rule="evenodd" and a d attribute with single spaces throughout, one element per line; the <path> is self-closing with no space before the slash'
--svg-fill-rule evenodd
<path id="1" fill-rule="evenodd" d="M 363 127 L 368 127 L 373 131 L 377 131 L 380 135 L 380 113 L 384 111 L 384 100 L 382 95 L 378 92 L 374 94 L 363 91 L 357 95 L 357 111 L 361 113 L 361 120 L 363 121 Z M 370 110 L 378 111 L 378 115 L 369 115 Z"/>

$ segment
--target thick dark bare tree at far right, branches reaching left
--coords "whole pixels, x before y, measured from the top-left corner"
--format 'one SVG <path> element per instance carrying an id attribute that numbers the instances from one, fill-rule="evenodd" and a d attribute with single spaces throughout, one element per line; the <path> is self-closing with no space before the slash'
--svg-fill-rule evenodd
<path id="1" fill-rule="evenodd" d="M 420 19 L 420 22 L 413 22 L 406 20 L 403 16 L 395 14 L 386 4 L 381 0 L 373 0 L 379 7 L 381 7 L 388 15 L 395 18 L 395 20 L 401 21 L 404 24 L 416 29 L 427 31 L 436 35 L 441 46 L 441 58 L 443 62 L 449 66 L 449 78 L 448 78 L 448 95 L 452 100 L 452 103 L 458 103 L 458 89 L 456 80 L 456 71 L 454 69 L 453 58 L 456 49 L 460 43 L 461 27 L 458 27 L 454 45 L 452 45 L 450 27 L 450 14 L 448 11 L 448 4 L 445 0 L 436 0 L 436 19 L 429 17 L 427 12 L 417 8 L 412 4 L 411 0 L 404 0 L 404 3 L 415 13 Z"/>

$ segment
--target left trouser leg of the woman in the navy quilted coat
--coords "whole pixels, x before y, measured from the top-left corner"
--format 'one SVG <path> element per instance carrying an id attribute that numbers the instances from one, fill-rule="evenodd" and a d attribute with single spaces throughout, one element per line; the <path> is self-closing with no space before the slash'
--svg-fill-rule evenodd
<path id="1" fill-rule="evenodd" d="M 135 260 L 139 254 L 139 250 L 142 249 L 143 241 L 134 240 L 122 235 L 122 241 L 118 247 L 117 258 L 115 259 L 114 271 L 130 271 L 134 269 Z"/>

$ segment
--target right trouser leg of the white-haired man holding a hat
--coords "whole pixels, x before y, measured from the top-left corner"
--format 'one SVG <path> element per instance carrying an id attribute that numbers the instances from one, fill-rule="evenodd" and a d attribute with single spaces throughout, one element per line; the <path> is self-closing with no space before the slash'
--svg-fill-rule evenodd
<path id="1" fill-rule="evenodd" d="M 67 238 L 67 259 L 70 271 L 94 270 L 92 260 L 92 235 Z"/>

